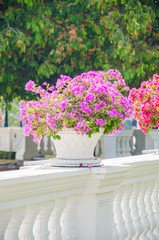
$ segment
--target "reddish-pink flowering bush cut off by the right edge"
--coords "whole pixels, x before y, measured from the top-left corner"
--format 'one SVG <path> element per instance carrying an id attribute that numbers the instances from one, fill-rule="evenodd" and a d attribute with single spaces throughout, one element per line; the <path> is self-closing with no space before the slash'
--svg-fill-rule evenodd
<path id="1" fill-rule="evenodd" d="M 159 127 L 159 75 L 141 83 L 140 88 L 132 88 L 129 93 L 135 119 L 146 134 Z"/>

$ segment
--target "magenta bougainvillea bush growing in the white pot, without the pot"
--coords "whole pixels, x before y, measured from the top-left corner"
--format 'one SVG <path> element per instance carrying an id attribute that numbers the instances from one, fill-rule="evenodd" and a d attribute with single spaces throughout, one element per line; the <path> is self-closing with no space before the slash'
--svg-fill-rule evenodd
<path id="1" fill-rule="evenodd" d="M 158 81 L 157 75 L 154 78 Z M 48 86 L 46 82 L 42 85 Z M 74 78 L 61 75 L 55 87 L 46 89 L 30 80 L 25 89 L 39 97 L 39 100 L 21 101 L 20 104 L 24 134 L 32 134 L 34 141 L 40 141 L 45 134 L 58 135 L 62 128 L 73 128 L 88 136 L 98 132 L 99 128 L 106 134 L 114 134 L 122 129 L 123 120 L 132 115 L 132 102 L 123 94 L 129 88 L 116 69 L 89 71 Z M 140 92 L 139 97 L 143 94 Z M 153 103 L 158 106 L 158 98 Z M 144 104 L 146 106 L 147 102 Z"/>

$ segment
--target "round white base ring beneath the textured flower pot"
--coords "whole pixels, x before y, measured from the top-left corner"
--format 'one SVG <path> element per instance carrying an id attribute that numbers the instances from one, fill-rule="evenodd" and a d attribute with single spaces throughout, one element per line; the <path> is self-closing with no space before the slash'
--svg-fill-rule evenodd
<path id="1" fill-rule="evenodd" d="M 49 164 L 55 167 L 99 167 L 102 162 L 99 158 L 90 159 L 62 159 L 52 158 L 49 159 Z"/>

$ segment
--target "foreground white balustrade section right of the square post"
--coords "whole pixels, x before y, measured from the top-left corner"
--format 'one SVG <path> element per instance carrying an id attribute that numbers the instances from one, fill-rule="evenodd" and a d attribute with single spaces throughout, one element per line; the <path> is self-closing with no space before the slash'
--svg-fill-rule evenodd
<path id="1" fill-rule="evenodd" d="M 159 239 L 158 159 L 148 154 L 122 161 L 131 167 L 115 193 L 114 240 Z"/>

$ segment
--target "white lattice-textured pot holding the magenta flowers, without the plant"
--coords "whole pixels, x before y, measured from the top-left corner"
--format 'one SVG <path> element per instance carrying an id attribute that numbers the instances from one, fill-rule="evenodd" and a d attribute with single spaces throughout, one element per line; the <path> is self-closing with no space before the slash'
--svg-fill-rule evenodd
<path id="1" fill-rule="evenodd" d="M 99 166 L 101 160 L 93 156 L 95 146 L 102 135 L 92 134 L 91 137 L 76 133 L 73 129 L 63 129 L 58 135 L 60 140 L 53 140 L 56 149 L 56 158 L 50 159 L 53 166 L 61 167 L 85 167 Z"/>

